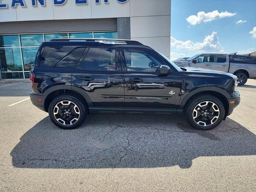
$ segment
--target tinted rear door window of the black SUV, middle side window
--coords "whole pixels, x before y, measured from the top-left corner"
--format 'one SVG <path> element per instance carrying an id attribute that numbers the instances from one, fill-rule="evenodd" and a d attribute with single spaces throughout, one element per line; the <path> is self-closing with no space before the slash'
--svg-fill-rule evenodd
<path id="1" fill-rule="evenodd" d="M 115 48 L 88 48 L 77 66 L 81 70 L 120 71 Z"/>

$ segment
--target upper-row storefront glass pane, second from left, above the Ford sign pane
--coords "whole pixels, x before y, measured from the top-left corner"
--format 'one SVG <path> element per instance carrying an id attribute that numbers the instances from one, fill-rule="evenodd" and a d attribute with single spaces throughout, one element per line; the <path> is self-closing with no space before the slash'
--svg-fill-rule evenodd
<path id="1" fill-rule="evenodd" d="M 43 34 L 20 35 L 22 47 L 38 47 L 43 41 Z"/>

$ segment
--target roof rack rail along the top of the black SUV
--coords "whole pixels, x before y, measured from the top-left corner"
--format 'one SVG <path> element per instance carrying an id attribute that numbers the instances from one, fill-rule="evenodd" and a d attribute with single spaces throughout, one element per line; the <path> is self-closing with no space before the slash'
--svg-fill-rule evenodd
<path id="1" fill-rule="evenodd" d="M 101 42 L 107 44 L 124 44 L 127 45 L 143 45 L 142 43 L 135 40 L 126 40 L 126 39 L 93 39 L 93 38 L 63 38 L 63 39 L 52 39 L 50 41 L 88 41 L 88 42 Z M 109 43 L 107 41 L 110 41 Z"/>

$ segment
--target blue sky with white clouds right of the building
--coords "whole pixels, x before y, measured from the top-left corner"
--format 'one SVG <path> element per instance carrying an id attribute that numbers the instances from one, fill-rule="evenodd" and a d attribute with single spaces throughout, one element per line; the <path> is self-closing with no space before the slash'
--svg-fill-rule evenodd
<path id="1" fill-rule="evenodd" d="M 171 59 L 254 51 L 256 0 L 172 0 Z"/>

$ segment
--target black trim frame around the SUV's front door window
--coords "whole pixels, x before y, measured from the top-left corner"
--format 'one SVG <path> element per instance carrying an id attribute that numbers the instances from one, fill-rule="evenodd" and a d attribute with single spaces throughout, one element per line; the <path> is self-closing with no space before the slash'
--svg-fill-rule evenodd
<path id="1" fill-rule="evenodd" d="M 167 65 L 170 67 L 170 69 L 172 70 L 171 72 L 173 72 L 173 69 L 172 67 L 167 64 L 161 57 L 158 56 L 158 54 L 156 54 L 155 52 L 152 52 L 151 50 L 148 50 L 148 49 L 143 49 L 143 48 L 131 48 L 131 47 L 128 47 L 128 48 L 124 48 L 124 47 L 120 47 L 120 54 L 122 53 L 122 57 L 120 56 L 121 58 L 121 65 L 122 65 L 122 70 L 126 68 L 127 64 L 126 64 L 126 59 L 125 59 L 125 55 L 124 55 L 124 49 L 136 49 L 136 50 L 144 50 L 144 51 L 148 51 L 148 52 L 151 52 L 152 54 L 156 55 L 160 60 L 162 60 L 162 62 L 164 63 L 164 65 Z M 170 72 L 170 73 L 171 73 Z M 159 74 L 159 72 L 139 72 L 139 71 L 126 71 L 126 70 L 123 70 L 123 73 L 136 73 L 136 74 Z"/>

